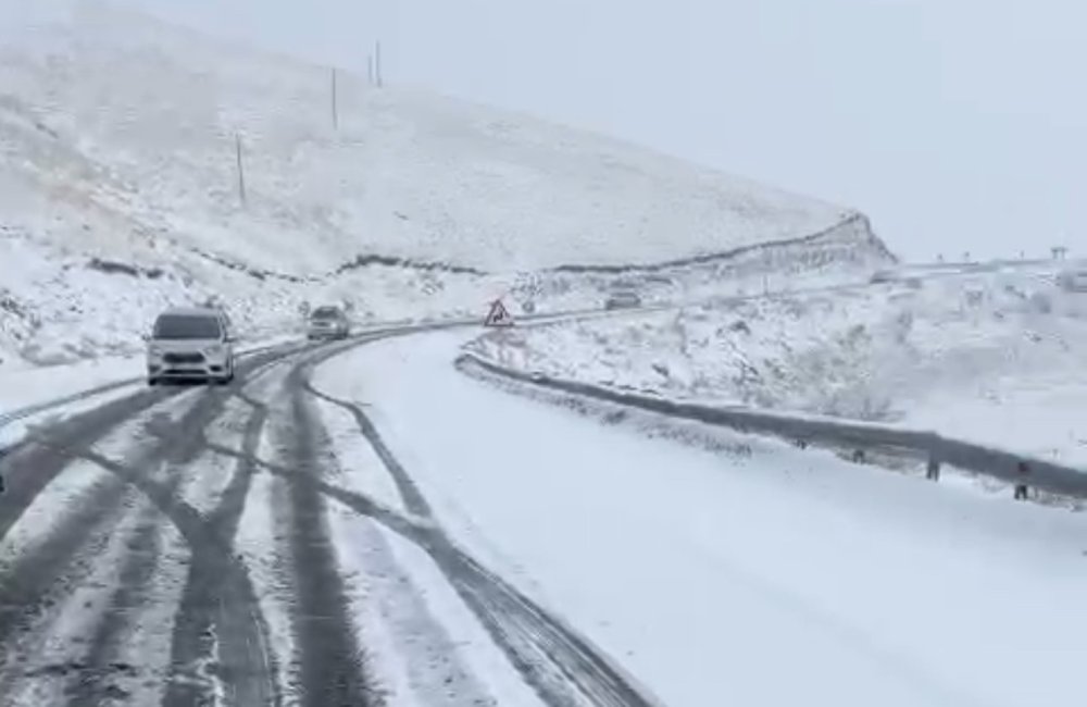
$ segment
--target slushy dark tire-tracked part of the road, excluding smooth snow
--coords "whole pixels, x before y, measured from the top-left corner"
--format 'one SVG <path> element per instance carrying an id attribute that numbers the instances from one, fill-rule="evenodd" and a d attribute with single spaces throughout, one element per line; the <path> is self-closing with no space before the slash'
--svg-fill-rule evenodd
<path id="1" fill-rule="evenodd" d="M 329 536 L 334 504 L 429 555 L 540 703 L 651 704 L 451 543 L 365 412 L 310 385 L 325 360 L 390 334 L 261 351 L 227 387 L 141 389 L 36 429 L 0 459 L 0 706 L 382 704 Z M 318 399 L 354 417 L 405 513 L 336 485 Z M 275 529 L 286 617 L 266 615 L 236 544 L 260 474 L 277 483 L 257 510 Z M 289 625 L 289 653 L 274 620 Z"/>

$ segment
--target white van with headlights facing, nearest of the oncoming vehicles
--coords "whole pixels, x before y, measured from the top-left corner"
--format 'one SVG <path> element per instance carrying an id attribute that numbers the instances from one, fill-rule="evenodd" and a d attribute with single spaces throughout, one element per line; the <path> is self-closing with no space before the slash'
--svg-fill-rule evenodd
<path id="1" fill-rule="evenodd" d="M 229 320 L 208 307 L 170 309 L 154 321 L 147 342 L 147 382 L 234 380 L 234 335 Z"/>

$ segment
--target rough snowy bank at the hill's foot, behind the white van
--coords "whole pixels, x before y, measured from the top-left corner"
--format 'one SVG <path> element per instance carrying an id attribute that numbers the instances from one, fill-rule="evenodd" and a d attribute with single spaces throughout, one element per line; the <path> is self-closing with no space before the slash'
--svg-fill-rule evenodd
<path id="1" fill-rule="evenodd" d="M 0 212 L 0 220 L 2 220 Z M 168 259 L 167 259 L 168 260 Z M 303 332 L 304 307 L 341 305 L 360 324 L 434 315 L 483 317 L 504 286 L 477 276 L 410 269 L 360 270 L 322 282 L 257 277 L 192 259 L 142 264 L 100 260 L 0 225 L 0 370 L 141 351 L 154 318 L 174 306 L 214 303 L 249 340 Z M 17 263 L 9 270 L 7 263 Z"/>

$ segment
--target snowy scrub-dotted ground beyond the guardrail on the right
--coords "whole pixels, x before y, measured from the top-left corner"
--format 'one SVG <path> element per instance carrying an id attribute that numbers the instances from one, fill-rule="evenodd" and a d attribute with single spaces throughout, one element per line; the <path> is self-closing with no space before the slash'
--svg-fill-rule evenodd
<path id="1" fill-rule="evenodd" d="M 499 363 L 676 398 L 896 421 L 1087 466 L 1087 296 L 988 272 L 500 332 Z"/>

